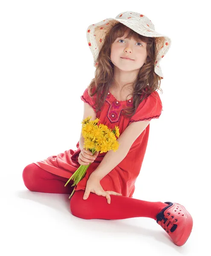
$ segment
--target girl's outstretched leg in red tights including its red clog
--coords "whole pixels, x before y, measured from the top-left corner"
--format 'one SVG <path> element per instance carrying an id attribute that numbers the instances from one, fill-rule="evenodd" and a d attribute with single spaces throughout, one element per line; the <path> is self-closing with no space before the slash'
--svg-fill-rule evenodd
<path id="1" fill-rule="evenodd" d="M 173 242 L 181 246 L 191 234 L 193 219 L 184 206 L 172 202 L 148 202 L 119 195 L 110 195 L 111 203 L 104 196 L 90 193 L 84 200 L 84 190 L 77 190 L 70 200 L 73 215 L 84 219 L 125 219 L 148 217 L 168 233 Z"/>

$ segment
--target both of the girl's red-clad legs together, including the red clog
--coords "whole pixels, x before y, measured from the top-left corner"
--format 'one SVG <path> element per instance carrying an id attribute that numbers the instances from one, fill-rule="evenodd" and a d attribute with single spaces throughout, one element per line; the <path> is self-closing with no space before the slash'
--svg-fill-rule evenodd
<path id="1" fill-rule="evenodd" d="M 71 194 L 71 180 L 54 175 L 31 163 L 23 169 L 25 186 L 36 192 Z M 134 217 L 153 218 L 168 233 L 173 242 L 179 246 L 185 244 L 191 234 L 193 220 L 190 213 L 180 204 L 171 202 L 148 202 L 119 195 L 110 195 L 107 199 L 90 193 L 89 198 L 83 199 L 84 190 L 75 191 L 70 200 L 73 215 L 85 219 L 124 219 Z"/>

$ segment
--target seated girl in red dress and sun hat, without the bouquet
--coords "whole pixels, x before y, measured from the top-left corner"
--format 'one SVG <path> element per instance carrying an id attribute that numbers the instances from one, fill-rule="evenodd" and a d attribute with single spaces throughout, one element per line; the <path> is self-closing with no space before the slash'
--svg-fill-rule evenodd
<path id="1" fill-rule="evenodd" d="M 153 23 L 145 15 L 123 12 L 115 19 L 91 24 L 87 41 L 96 71 L 95 79 L 81 96 L 83 119 L 98 117 L 99 123 L 111 129 L 119 126 L 119 148 L 116 152 L 95 152 L 92 156 L 83 148 L 81 135 L 76 150 L 69 149 L 26 166 L 24 184 L 31 191 L 71 194 L 73 181 L 67 186 L 64 184 L 79 165 L 92 163 L 75 186 L 70 200 L 73 215 L 107 220 L 153 218 L 172 241 L 181 246 L 193 226 L 185 207 L 133 198 L 147 147 L 150 120 L 162 113 L 162 102 L 156 91 L 163 79 L 159 62 L 168 52 L 171 39 L 155 32 Z"/>

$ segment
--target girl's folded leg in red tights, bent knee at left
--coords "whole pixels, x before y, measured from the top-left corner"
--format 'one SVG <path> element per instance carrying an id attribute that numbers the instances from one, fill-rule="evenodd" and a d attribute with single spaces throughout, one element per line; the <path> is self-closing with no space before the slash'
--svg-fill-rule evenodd
<path id="1" fill-rule="evenodd" d="M 31 163 L 23 169 L 22 177 L 27 189 L 35 192 L 71 194 L 74 189 L 73 186 L 71 187 L 73 180 L 64 186 L 67 178 L 47 172 L 35 163 Z"/>

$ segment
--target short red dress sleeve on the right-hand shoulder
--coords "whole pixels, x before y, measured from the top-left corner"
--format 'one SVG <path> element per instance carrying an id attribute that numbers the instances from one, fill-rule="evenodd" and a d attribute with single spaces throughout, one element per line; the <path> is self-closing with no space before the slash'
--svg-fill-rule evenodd
<path id="1" fill-rule="evenodd" d="M 139 104 L 136 113 L 130 119 L 130 123 L 159 118 L 161 112 L 162 102 L 158 92 L 154 91 Z"/>

